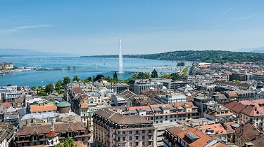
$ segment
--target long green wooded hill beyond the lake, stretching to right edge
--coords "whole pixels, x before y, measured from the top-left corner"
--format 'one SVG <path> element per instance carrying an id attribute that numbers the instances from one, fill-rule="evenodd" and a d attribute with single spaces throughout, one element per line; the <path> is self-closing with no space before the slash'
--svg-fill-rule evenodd
<path id="1" fill-rule="evenodd" d="M 101 55 L 89 57 L 118 57 L 118 55 Z M 264 60 L 264 53 L 230 52 L 222 50 L 179 50 L 174 52 L 148 55 L 123 55 L 123 57 L 193 62 L 256 62 Z"/>

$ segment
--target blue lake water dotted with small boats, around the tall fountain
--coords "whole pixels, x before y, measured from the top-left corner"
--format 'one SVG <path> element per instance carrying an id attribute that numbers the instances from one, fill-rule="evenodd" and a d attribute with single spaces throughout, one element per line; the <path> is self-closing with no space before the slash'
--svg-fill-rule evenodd
<path id="1" fill-rule="evenodd" d="M 0 76 L 0 86 L 11 85 L 29 85 L 39 86 L 49 83 L 56 83 L 59 79 L 68 76 L 73 79 L 73 76 L 78 76 L 80 79 L 85 79 L 97 74 L 110 76 L 113 78 L 114 71 L 119 70 L 118 58 L 96 58 L 96 57 L 0 57 L 0 62 L 12 62 L 13 66 L 36 66 L 49 69 L 73 69 L 75 70 L 58 70 L 58 71 L 21 71 L 6 73 L 5 76 Z M 186 65 L 190 65 L 187 62 Z M 151 72 L 153 69 L 145 69 L 142 67 L 150 66 L 176 66 L 177 62 L 153 59 L 123 59 L 123 71 L 118 73 L 118 78 L 125 80 L 133 76 L 134 72 Z M 169 69 L 156 69 L 158 72 L 173 72 Z"/>

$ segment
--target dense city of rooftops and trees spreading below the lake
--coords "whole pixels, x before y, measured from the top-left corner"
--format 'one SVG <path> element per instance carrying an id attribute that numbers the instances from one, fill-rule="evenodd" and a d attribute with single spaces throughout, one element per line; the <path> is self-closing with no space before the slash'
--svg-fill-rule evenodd
<path id="1" fill-rule="evenodd" d="M 1 85 L 0 146 L 264 146 L 263 61 L 144 68 L 153 71 L 127 80 L 115 71 Z M 27 68 L 2 62 L 0 70 Z"/>

